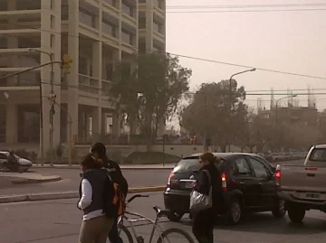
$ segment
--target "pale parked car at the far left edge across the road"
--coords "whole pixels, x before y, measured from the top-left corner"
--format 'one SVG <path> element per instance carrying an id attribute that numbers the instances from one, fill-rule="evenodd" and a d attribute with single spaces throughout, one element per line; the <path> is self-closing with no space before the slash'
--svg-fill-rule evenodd
<path id="1" fill-rule="evenodd" d="M 0 151 L 0 168 L 4 172 L 17 172 L 24 173 L 32 167 L 33 163 L 27 159 L 19 157 L 17 154 L 14 154 L 17 164 L 8 164 L 8 157 L 10 155 L 9 151 Z"/>

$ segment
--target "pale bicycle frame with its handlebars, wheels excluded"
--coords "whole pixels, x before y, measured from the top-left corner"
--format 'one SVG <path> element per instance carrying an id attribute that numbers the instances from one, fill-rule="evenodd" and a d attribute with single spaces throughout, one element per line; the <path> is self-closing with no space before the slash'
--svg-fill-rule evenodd
<path id="1" fill-rule="evenodd" d="M 135 216 L 138 217 L 136 219 L 130 219 L 127 215 L 129 216 Z M 137 231 L 135 229 L 134 223 L 136 222 L 140 222 L 140 221 L 147 221 L 149 223 L 151 223 L 153 225 L 153 228 L 151 230 L 150 233 L 150 238 L 149 238 L 149 243 L 152 243 L 153 237 L 154 237 L 154 233 L 155 230 L 158 230 L 159 232 L 159 236 L 161 236 L 161 234 L 163 233 L 163 229 L 158 225 L 158 217 L 156 218 L 156 220 L 150 220 L 149 218 L 145 217 L 144 215 L 141 215 L 139 213 L 136 212 L 131 212 L 131 211 L 125 211 L 124 214 L 122 216 L 120 216 L 120 219 L 118 220 L 118 224 L 122 223 L 123 224 L 123 220 L 127 220 L 129 222 L 129 226 L 131 228 L 132 234 L 134 235 L 134 237 L 137 239 L 141 236 L 139 236 L 137 234 Z M 162 238 L 162 240 L 164 240 Z M 169 241 L 169 240 L 168 240 Z"/>

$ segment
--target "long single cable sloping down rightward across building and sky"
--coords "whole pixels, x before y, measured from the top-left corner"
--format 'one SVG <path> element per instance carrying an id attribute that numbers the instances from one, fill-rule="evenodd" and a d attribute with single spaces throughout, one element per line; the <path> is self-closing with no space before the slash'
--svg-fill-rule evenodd
<path id="1" fill-rule="evenodd" d="M 24 25 L 17 24 L 17 23 L 14 23 L 14 24 L 13 23 L 9 23 L 9 24 L 10 25 L 24 27 L 24 28 L 27 28 L 27 29 L 38 30 L 40 32 L 57 33 L 57 34 L 67 34 L 68 36 L 71 36 L 71 37 L 74 37 L 74 38 L 85 39 L 88 42 L 102 42 L 102 43 L 108 44 L 108 45 L 112 45 L 112 44 L 113 45 L 122 45 L 120 43 L 104 42 L 104 41 L 100 41 L 100 40 L 91 39 L 91 38 L 88 38 L 88 37 L 82 37 L 82 36 L 73 35 L 73 34 L 70 34 L 70 33 L 58 33 L 58 32 L 53 32 L 53 31 L 49 31 L 49 30 L 43 30 L 43 29 L 40 29 L 40 28 L 26 27 Z M 139 50 L 138 47 L 134 47 L 133 46 L 132 48 L 135 49 L 135 50 Z M 212 62 L 212 63 L 223 64 L 223 65 L 234 66 L 234 67 L 245 68 L 245 69 L 253 69 L 253 68 L 255 68 L 256 70 L 268 71 L 268 72 L 285 74 L 285 75 L 290 75 L 290 76 L 296 76 L 296 77 L 302 77 L 302 78 L 309 78 L 309 79 L 322 79 L 322 80 L 326 80 L 326 78 L 324 78 L 324 77 L 318 77 L 318 76 L 312 76 L 312 75 L 306 75 L 306 74 L 300 74 L 300 73 L 294 73 L 294 72 L 282 71 L 282 70 L 264 69 L 264 68 L 259 68 L 259 67 L 249 66 L 249 65 L 243 65 L 243 64 L 236 64 L 236 63 L 226 62 L 226 61 L 215 61 L 215 60 L 209 60 L 209 59 L 205 59 L 205 58 L 198 58 L 198 57 L 193 57 L 193 56 L 188 56 L 188 55 L 183 55 L 183 54 L 172 53 L 172 52 L 168 52 L 168 51 L 152 51 L 152 52 L 166 53 L 166 54 L 173 55 L 173 56 L 176 56 L 176 57 L 182 57 L 182 58 L 187 58 L 187 59 L 197 60 L 197 61 Z"/>

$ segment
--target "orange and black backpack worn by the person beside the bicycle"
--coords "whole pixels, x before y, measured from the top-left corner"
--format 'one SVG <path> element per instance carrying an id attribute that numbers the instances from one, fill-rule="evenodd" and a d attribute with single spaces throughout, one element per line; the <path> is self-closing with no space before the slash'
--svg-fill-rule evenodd
<path id="1" fill-rule="evenodd" d="M 111 176 L 110 173 L 114 173 L 115 169 L 114 168 L 105 168 L 105 170 L 108 172 L 107 173 L 107 178 L 110 181 L 109 183 L 111 184 L 111 192 L 110 192 L 110 203 L 113 207 L 113 210 L 116 214 L 116 216 L 121 216 L 125 210 L 125 196 L 120 190 L 120 184 L 119 182 L 115 181 L 113 178 L 114 176 Z"/>

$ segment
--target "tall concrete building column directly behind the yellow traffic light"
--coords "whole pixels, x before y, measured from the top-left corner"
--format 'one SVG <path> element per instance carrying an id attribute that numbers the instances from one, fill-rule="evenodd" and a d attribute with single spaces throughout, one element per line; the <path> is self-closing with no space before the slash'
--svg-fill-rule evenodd
<path id="1" fill-rule="evenodd" d="M 72 70 L 67 75 L 68 87 L 68 112 L 72 116 L 72 135 L 77 135 L 78 140 L 78 93 L 75 87 L 79 85 L 79 0 L 70 0 L 68 2 L 69 27 L 68 27 L 68 53 L 72 56 Z M 68 141 L 72 137 L 68 136 Z"/>

